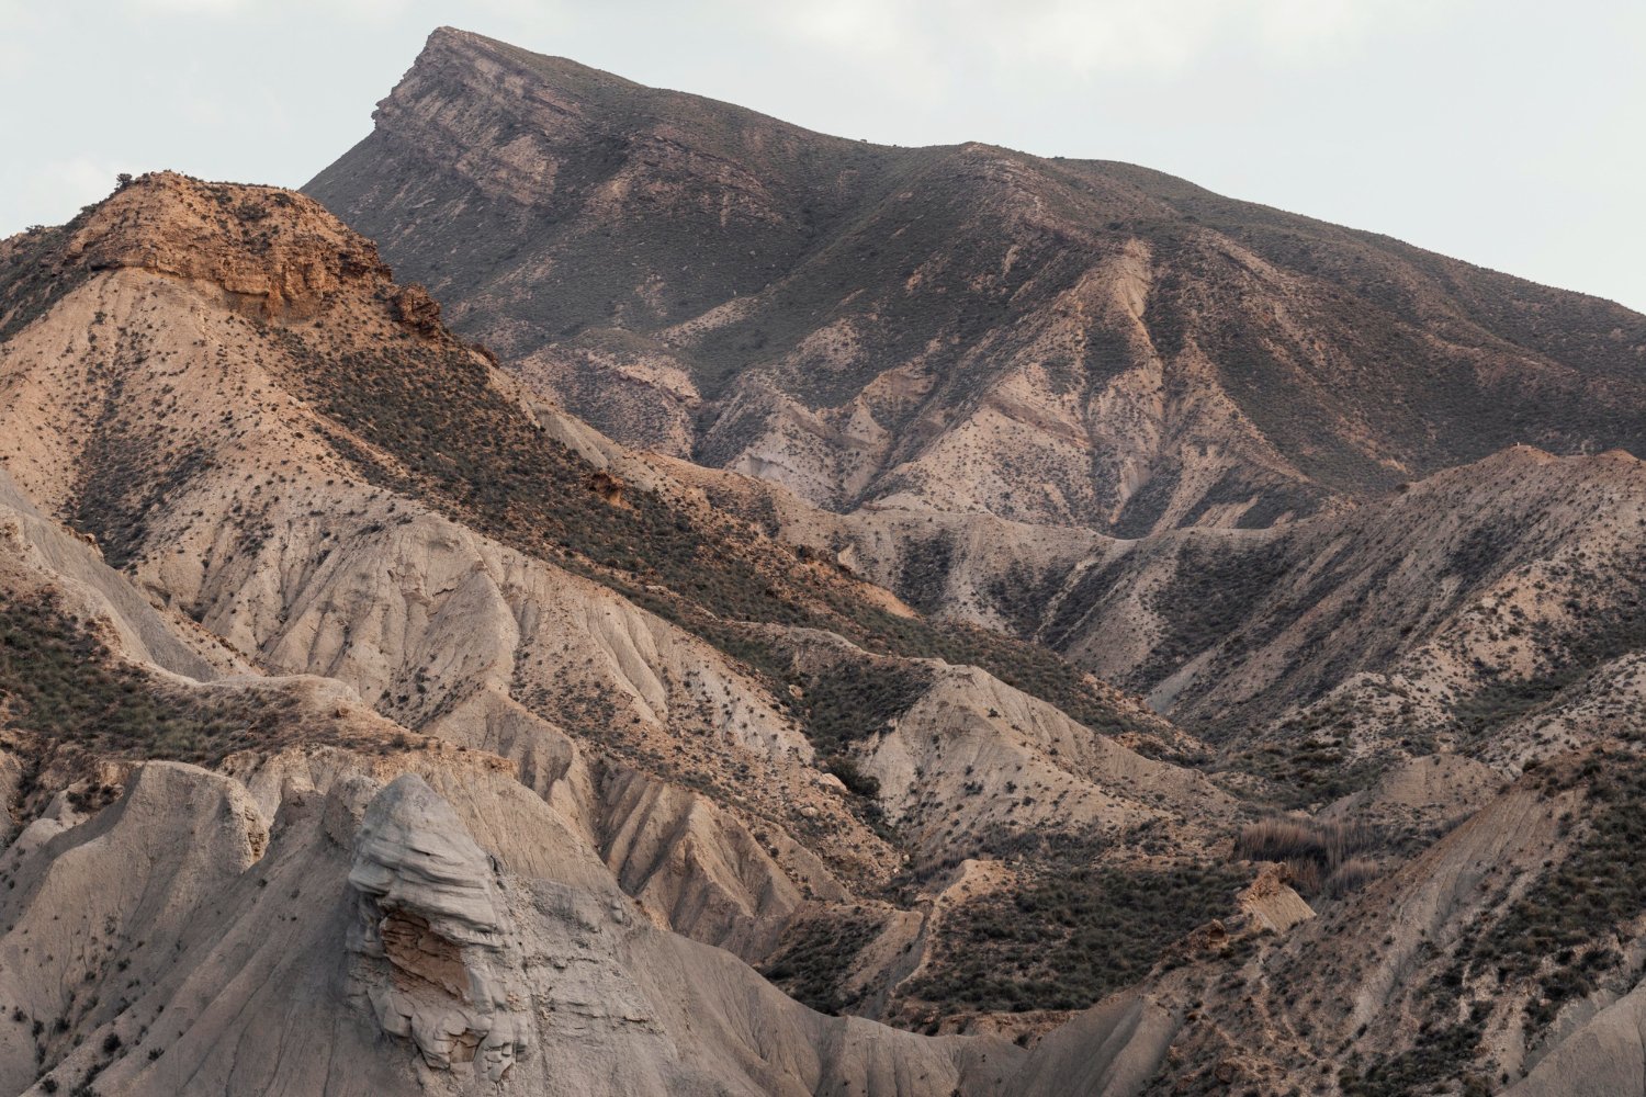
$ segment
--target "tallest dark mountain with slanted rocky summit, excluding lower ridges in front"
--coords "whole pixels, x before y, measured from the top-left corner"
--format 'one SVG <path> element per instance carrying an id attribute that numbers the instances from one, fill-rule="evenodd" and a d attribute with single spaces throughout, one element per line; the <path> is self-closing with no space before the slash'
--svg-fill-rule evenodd
<path id="1" fill-rule="evenodd" d="M 1137 536 L 1646 447 L 1646 317 L 1129 164 L 810 133 L 439 30 L 306 187 L 612 437 Z"/>

